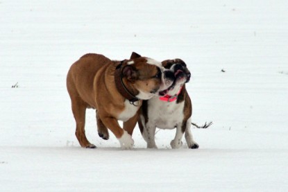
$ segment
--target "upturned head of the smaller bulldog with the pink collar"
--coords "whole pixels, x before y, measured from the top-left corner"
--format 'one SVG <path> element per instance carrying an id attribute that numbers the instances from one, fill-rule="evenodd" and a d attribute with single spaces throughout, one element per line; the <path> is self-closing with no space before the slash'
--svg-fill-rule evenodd
<path id="1" fill-rule="evenodd" d="M 180 59 L 164 60 L 162 61 L 162 66 L 171 71 L 175 78 L 172 85 L 168 89 L 159 92 L 159 96 L 164 96 L 167 94 L 173 96 L 180 91 L 181 87 L 186 82 L 189 82 L 191 73 L 187 69 L 185 62 Z"/>

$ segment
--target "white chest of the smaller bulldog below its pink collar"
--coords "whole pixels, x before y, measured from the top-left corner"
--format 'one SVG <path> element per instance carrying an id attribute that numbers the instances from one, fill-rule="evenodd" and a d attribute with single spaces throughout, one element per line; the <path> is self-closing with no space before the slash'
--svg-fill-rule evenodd
<path id="1" fill-rule="evenodd" d="M 173 129 L 182 123 L 184 102 L 176 103 L 160 101 L 155 97 L 148 101 L 149 123 L 161 129 Z"/>

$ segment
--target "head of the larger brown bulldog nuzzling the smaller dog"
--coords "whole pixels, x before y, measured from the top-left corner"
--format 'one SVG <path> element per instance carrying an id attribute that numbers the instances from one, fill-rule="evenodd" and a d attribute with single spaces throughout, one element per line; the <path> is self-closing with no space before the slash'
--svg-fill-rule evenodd
<path id="1" fill-rule="evenodd" d="M 174 82 L 173 71 L 167 70 L 161 62 L 132 53 L 130 60 L 122 62 L 122 75 L 134 89 L 139 99 L 158 96 L 160 91 L 168 89 Z"/>

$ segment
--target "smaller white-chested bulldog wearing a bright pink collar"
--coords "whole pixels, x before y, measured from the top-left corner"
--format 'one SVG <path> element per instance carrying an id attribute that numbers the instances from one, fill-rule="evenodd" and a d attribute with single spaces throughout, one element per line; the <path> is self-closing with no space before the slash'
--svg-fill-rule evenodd
<path id="1" fill-rule="evenodd" d="M 164 60 L 162 62 L 166 69 L 173 72 L 175 80 L 169 89 L 159 92 L 159 96 L 143 101 L 139 115 L 139 129 L 147 148 L 157 148 L 155 144 L 155 129 L 174 129 L 176 136 L 171 141 L 172 148 L 182 146 L 182 137 L 189 148 L 198 148 L 194 141 L 191 127 L 192 102 L 185 89 L 185 83 L 189 82 L 190 72 L 183 60 Z"/>

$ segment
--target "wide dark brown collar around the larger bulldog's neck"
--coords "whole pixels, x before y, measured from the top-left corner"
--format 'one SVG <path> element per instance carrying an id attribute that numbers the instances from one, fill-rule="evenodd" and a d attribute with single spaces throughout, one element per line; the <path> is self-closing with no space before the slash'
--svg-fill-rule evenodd
<path id="1" fill-rule="evenodd" d="M 124 98 L 128 99 L 131 105 L 135 105 L 139 98 L 137 98 L 130 86 L 125 85 L 123 76 L 122 76 L 122 62 L 120 62 L 115 69 L 115 84 L 119 93 L 124 96 Z"/>

